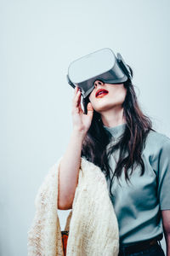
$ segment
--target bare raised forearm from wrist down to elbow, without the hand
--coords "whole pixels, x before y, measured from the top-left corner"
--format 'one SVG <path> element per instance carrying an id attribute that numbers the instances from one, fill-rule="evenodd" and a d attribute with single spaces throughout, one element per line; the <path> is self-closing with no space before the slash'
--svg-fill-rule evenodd
<path id="1" fill-rule="evenodd" d="M 68 206 L 71 206 L 73 201 L 75 190 L 77 188 L 84 137 L 84 133 L 73 130 L 68 147 L 60 161 L 58 196 L 58 206 L 60 209 L 67 209 Z"/>

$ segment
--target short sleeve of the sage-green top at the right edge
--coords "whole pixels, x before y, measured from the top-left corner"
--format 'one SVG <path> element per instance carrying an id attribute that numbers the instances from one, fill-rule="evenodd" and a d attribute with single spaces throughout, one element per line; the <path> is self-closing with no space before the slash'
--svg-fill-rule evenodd
<path id="1" fill-rule="evenodd" d="M 170 139 L 163 143 L 158 160 L 158 196 L 161 210 L 170 209 Z"/>

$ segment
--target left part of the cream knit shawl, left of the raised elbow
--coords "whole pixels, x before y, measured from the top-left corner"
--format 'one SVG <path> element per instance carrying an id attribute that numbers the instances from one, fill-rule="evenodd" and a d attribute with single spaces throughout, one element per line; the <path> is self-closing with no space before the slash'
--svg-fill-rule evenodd
<path id="1" fill-rule="evenodd" d="M 28 231 L 28 256 L 64 256 L 58 217 L 59 158 L 48 170 L 35 199 L 35 216 Z"/>

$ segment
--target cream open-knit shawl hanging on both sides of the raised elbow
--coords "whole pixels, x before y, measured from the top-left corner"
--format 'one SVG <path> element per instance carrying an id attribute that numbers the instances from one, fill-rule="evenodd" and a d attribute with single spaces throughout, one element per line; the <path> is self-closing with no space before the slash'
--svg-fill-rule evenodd
<path id="1" fill-rule="evenodd" d="M 59 162 L 50 167 L 38 189 L 36 212 L 28 231 L 28 256 L 63 256 L 58 217 Z M 99 166 L 81 158 L 78 184 L 65 230 L 67 256 L 116 256 L 119 234 L 116 214 Z"/>

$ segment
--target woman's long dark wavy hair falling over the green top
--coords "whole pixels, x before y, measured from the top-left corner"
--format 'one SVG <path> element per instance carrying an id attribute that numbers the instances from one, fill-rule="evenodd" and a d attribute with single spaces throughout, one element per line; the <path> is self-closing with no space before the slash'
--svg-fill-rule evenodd
<path id="1" fill-rule="evenodd" d="M 128 66 L 129 67 L 129 66 Z M 133 76 L 133 70 L 130 71 Z M 105 177 L 109 177 L 112 183 L 113 177 L 119 178 L 125 172 L 126 180 L 129 181 L 129 175 L 134 171 L 134 165 L 141 166 L 141 175 L 144 174 L 144 161 L 142 160 L 142 150 L 144 148 L 145 139 L 149 131 L 152 129 L 150 118 L 141 111 L 137 100 L 136 93 L 133 88 L 132 81 L 127 79 L 124 83 L 127 89 L 125 101 L 122 104 L 123 116 L 126 119 L 125 131 L 120 137 L 120 140 L 115 143 L 109 150 L 107 145 L 111 142 L 111 133 L 103 127 L 103 122 L 100 119 L 100 114 L 94 110 L 92 123 L 88 129 L 88 133 L 82 143 L 82 156 L 87 160 L 99 166 Z M 84 112 L 87 113 L 88 97 L 83 99 L 82 104 Z M 120 149 L 119 159 L 114 172 L 109 165 L 109 156 Z M 131 169 L 129 173 L 128 170 Z M 111 173 L 112 172 L 112 177 Z M 110 186 L 111 193 L 111 186 Z"/>

